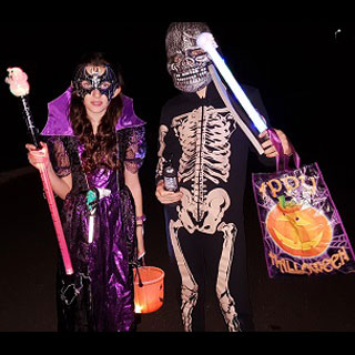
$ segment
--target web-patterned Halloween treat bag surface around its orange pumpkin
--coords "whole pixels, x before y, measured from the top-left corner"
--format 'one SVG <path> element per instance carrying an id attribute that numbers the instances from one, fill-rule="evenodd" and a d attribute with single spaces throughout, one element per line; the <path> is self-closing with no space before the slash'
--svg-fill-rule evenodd
<path id="1" fill-rule="evenodd" d="M 290 176 L 292 179 L 287 180 Z M 275 180 L 286 182 L 300 181 L 301 183 L 290 184 L 288 186 L 283 183 L 281 190 L 281 184 L 277 184 L 276 194 L 275 190 L 273 191 L 267 187 L 273 185 L 266 184 Z M 317 163 L 278 173 L 253 174 L 253 190 L 270 277 L 280 274 L 317 275 L 355 272 L 353 248 Z M 266 221 L 271 211 L 280 203 L 280 196 L 285 196 L 286 202 L 294 202 L 297 205 L 302 205 L 303 209 L 313 207 L 317 210 L 317 214 L 326 217 L 333 235 L 326 251 L 322 255 L 316 257 L 293 256 L 274 242 L 266 229 Z"/>

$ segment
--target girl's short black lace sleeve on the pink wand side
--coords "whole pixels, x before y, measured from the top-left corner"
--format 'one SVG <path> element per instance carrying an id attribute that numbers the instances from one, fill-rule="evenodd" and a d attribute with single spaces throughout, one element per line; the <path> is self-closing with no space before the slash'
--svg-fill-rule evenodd
<path id="1" fill-rule="evenodd" d="M 59 178 L 71 174 L 70 159 L 60 138 L 53 136 L 47 140 L 51 163 Z"/>

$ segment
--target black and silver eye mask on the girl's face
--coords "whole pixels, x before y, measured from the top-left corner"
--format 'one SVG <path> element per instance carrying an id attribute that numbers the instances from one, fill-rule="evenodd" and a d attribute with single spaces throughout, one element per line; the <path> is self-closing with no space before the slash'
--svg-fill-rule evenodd
<path id="1" fill-rule="evenodd" d="M 84 99 L 92 91 L 99 90 L 102 95 L 106 95 L 111 101 L 120 84 L 112 68 L 109 65 L 80 65 L 74 75 L 73 87 L 80 98 Z"/>

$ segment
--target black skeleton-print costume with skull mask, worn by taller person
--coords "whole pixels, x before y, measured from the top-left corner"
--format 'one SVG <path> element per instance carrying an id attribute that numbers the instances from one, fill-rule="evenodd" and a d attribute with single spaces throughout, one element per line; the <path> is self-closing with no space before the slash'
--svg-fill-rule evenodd
<path id="1" fill-rule="evenodd" d="M 227 329 L 252 331 L 243 197 L 253 148 L 211 79 L 207 54 L 196 47 L 202 32 L 210 30 L 201 22 L 174 22 L 168 31 L 168 70 L 182 93 L 162 109 L 156 183 L 172 160 L 183 199 L 165 206 L 166 234 L 181 276 L 184 329 L 205 331 L 210 280 Z M 205 87 L 206 97 L 200 99 L 196 91 Z M 258 91 L 244 89 L 267 116 Z"/>

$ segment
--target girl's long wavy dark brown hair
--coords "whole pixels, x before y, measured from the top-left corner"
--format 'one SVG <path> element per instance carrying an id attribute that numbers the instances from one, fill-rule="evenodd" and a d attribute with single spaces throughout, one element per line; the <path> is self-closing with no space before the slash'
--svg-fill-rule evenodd
<path id="1" fill-rule="evenodd" d="M 80 64 L 94 67 L 110 65 L 119 80 L 119 87 L 123 85 L 120 71 L 104 59 L 103 53 L 88 54 L 82 59 Z M 77 95 L 75 91 L 73 92 L 70 105 L 70 122 L 75 136 L 84 144 L 82 162 L 85 172 L 92 173 L 97 169 L 102 168 L 110 170 L 119 169 L 115 126 L 121 116 L 122 106 L 123 101 L 120 93 L 111 100 L 108 111 L 98 128 L 98 133 L 94 135 L 91 122 L 87 116 L 83 99 Z"/>

